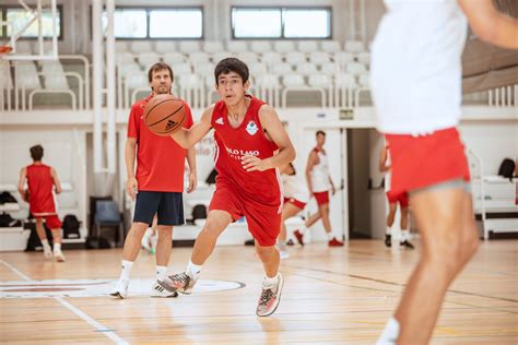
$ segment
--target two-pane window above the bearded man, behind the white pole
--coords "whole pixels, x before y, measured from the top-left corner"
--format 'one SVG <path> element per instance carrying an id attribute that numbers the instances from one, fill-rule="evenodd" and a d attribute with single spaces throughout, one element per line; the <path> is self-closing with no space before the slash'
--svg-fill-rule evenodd
<path id="1" fill-rule="evenodd" d="M 202 8 L 118 8 L 116 38 L 203 38 Z M 103 31 L 108 25 L 103 12 Z"/>

